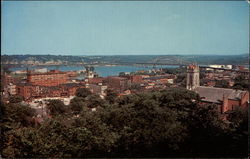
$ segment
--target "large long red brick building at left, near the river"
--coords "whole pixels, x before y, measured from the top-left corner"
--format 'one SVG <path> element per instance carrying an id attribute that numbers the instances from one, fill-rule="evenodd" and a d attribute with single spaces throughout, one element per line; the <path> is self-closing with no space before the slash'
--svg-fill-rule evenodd
<path id="1" fill-rule="evenodd" d="M 68 82 L 68 75 L 65 72 L 51 70 L 46 73 L 27 73 L 27 83 L 38 86 L 58 86 Z"/>

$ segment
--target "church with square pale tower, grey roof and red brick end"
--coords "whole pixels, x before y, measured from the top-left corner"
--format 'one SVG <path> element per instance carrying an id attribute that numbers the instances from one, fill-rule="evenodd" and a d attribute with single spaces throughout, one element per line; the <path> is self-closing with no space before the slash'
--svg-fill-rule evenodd
<path id="1" fill-rule="evenodd" d="M 187 67 L 187 89 L 198 93 L 202 103 L 216 104 L 221 114 L 249 104 L 248 91 L 199 86 L 199 66 L 195 65 Z"/>

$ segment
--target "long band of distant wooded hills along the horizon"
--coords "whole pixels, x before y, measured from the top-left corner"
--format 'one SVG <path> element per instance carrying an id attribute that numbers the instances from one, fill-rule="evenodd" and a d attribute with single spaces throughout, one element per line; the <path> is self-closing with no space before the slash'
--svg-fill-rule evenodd
<path id="1" fill-rule="evenodd" d="M 248 65 L 249 57 L 242 55 L 115 55 L 115 56 L 64 56 L 64 55 L 1 55 L 1 64 L 234 64 Z"/>

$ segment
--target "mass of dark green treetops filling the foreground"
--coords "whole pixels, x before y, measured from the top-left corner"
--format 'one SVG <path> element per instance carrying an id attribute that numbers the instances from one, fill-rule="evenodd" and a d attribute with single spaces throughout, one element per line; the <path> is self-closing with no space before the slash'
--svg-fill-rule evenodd
<path id="1" fill-rule="evenodd" d="M 1 106 L 2 156 L 247 156 L 248 118 L 244 110 L 231 114 L 230 124 L 226 124 L 220 119 L 217 106 L 201 106 L 195 92 L 180 88 L 108 99 L 94 95 L 75 97 L 70 108 L 77 116 L 57 115 L 65 113 L 65 106 L 52 100 L 48 107 L 55 115 L 39 126 L 29 123 L 33 113 L 27 107 Z M 88 107 L 97 109 L 91 111 Z"/>

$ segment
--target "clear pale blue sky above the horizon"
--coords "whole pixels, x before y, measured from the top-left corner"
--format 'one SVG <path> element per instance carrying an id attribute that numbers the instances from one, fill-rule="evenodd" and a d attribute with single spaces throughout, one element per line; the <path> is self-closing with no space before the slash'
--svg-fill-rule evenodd
<path id="1" fill-rule="evenodd" d="M 1 54 L 237 55 L 246 1 L 1 1 Z"/>

